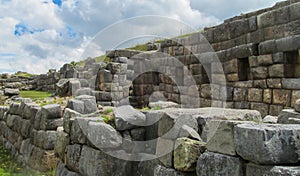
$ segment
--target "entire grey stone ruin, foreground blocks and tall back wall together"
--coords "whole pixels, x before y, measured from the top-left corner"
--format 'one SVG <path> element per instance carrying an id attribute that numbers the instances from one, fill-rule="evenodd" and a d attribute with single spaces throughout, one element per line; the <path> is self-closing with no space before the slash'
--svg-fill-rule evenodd
<path id="1" fill-rule="evenodd" d="M 288 0 L 157 50 L 66 64 L 36 88 L 75 98 L 0 107 L 0 141 L 57 176 L 300 175 L 299 29 Z M 112 124 L 98 105 L 114 106 Z"/>

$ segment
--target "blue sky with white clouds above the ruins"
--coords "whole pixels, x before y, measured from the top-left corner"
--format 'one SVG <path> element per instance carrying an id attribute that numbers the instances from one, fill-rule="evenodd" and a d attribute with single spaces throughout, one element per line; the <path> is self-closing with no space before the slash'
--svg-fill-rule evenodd
<path id="1" fill-rule="evenodd" d="M 94 36 L 120 20 L 156 15 L 200 29 L 241 13 L 272 6 L 276 1 L 0 0 L 0 73 L 18 70 L 46 73 L 50 68 L 59 69 L 64 63 L 80 60 Z M 146 20 L 132 25 L 134 28 L 122 30 L 124 34 L 136 32 L 145 30 L 149 24 Z M 110 44 L 109 38 L 114 36 L 110 35 L 102 46 L 96 47 L 97 52 L 87 54 L 103 54 Z"/>

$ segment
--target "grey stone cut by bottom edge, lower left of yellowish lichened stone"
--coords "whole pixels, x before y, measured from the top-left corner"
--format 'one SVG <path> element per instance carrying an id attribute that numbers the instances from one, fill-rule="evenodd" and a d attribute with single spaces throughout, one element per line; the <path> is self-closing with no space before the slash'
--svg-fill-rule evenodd
<path id="1" fill-rule="evenodd" d="M 161 165 L 157 165 L 154 168 L 154 176 L 195 176 L 195 175 L 196 174 L 194 174 L 194 173 L 179 172 L 179 171 L 176 171 L 175 169 L 166 168 Z"/>

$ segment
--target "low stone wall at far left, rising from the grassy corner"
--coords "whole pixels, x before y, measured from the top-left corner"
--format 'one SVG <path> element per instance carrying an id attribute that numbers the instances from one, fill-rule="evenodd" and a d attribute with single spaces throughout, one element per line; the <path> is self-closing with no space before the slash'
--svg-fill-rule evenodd
<path id="1" fill-rule="evenodd" d="M 23 99 L 0 107 L 0 141 L 27 166 L 49 171 L 55 168 L 56 129 L 62 126 L 60 105 L 40 107 Z"/>

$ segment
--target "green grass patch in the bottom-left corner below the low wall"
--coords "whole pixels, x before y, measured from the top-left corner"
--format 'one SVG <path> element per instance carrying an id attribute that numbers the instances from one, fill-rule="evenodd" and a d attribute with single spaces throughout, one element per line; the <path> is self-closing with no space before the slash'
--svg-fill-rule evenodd
<path id="1" fill-rule="evenodd" d="M 0 175 L 1 176 L 43 176 L 42 174 L 33 170 L 25 169 L 24 165 L 18 161 L 0 145 Z"/>

